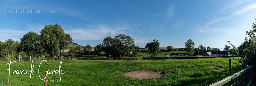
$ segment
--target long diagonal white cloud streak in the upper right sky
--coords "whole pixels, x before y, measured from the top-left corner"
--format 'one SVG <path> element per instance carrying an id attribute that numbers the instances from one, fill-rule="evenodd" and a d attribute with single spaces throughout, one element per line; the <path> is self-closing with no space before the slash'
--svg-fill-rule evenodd
<path id="1" fill-rule="evenodd" d="M 226 19 L 226 18 L 228 18 L 228 17 L 230 17 L 230 16 L 237 15 L 237 14 L 242 14 L 242 13 L 244 13 L 244 12 L 246 12 L 246 11 L 250 11 L 250 10 L 253 10 L 253 9 L 256 9 L 256 3 L 251 4 L 251 5 L 247 5 L 247 6 L 243 7 L 241 10 L 236 11 L 236 12 L 234 12 L 234 13 L 228 15 L 228 16 L 225 16 L 225 17 L 222 17 L 222 18 L 218 18 L 218 19 L 212 20 L 212 21 L 210 21 L 208 24 L 206 24 L 205 26 L 212 25 L 213 23 L 216 23 L 216 22 L 218 22 L 218 21 L 221 21 L 221 20 L 223 20 L 223 19 Z"/>

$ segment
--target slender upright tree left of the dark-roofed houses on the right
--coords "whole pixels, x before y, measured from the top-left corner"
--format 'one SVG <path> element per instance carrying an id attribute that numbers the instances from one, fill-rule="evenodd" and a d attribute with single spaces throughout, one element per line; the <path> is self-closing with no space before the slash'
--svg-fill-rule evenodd
<path id="1" fill-rule="evenodd" d="M 188 55 L 192 56 L 195 53 L 194 48 L 195 43 L 191 39 L 188 39 L 187 42 L 185 42 L 185 51 L 187 51 Z"/>

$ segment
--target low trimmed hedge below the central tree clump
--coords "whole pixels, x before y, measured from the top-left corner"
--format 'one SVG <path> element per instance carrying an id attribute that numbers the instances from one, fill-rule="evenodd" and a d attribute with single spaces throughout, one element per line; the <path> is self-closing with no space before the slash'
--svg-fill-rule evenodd
<path id="1" fill-rule="evenodd" d="M 78 60 L 138 60 L 136 57 L 124 57 L 124 58 L 77 58 Z"/>

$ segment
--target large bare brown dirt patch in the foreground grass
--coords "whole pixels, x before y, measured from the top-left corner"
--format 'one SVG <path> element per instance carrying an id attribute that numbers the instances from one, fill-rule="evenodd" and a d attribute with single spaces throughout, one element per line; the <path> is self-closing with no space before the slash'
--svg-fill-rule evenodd
<path id="1" fill-rule="evenodd" d="M 140 71 L 132 71 L 124 73 L 125 76 L 129 76 L 132 78 L 148 79 L 148 78 L 158 78 L 164 75 L 164 72 L 161 71 L 150 71 L 150 70 L 140 70 Z"/>

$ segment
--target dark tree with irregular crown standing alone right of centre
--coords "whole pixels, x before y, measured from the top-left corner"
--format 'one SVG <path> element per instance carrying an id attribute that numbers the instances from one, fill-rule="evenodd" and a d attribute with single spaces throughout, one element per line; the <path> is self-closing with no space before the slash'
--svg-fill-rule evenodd
<path id="1" fill-rule="evenodd" d="M 149 42 L 145 48 L 148 48 L 148 50 L 150 51 L 150 53 L 153 55 L 157 54 L 157 50 L 159 49 L 160 43 L 158 42 L 158 40 L 154 39 L 153 42 Z M 159 50 L 158 50 L 159 51 Z"/>

